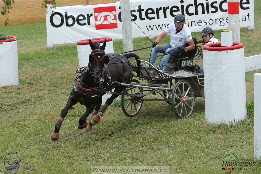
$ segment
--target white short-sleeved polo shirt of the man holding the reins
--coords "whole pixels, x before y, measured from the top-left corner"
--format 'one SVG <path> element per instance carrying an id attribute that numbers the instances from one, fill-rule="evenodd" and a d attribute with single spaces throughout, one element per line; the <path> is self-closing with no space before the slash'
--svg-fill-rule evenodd
<path id="1" fill-rule="evenodd" d="M 168 25 L 165 31 L 170 34 L 171 47 L 183 46 L 187 43 L 187 41 L 192 39 L 191 32 L 186 24 L 183 25 L 182 30 L 180 30 L 180 32 L 177 34 L 177 29 L 174 23 Z"/>

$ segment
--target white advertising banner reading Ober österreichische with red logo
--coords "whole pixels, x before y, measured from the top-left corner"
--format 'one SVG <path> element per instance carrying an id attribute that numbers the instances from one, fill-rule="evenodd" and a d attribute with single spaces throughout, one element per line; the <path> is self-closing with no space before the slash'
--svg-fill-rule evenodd
<path id="1" fill-rule="evenodd" d="M 240 0 L 240 27 L 254 26 L 254 0 Z M 228 28 L 227 0 L 130 0 L 133 37 L 158 36 L 183 14 L 190 31 Z M 122 39 L 120 2 L 56 7 L 46 14 L 47 44 Z M 143 32 L 145 33 L 143 33 Z"/>

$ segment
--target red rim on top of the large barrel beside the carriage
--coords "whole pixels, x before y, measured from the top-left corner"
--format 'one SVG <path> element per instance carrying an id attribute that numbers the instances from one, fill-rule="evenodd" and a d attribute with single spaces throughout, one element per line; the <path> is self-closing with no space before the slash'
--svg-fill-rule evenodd
<path id="1" fill-rule="evenodd" d="M 240 42 L 233 42 L 232 46 L 221 46 L 221 42 L 218 43 L 212 43 L 212 44 L 206 44 L 203 46 L 204 50 L 209 51 L 226 51 L 226 50 L 233 50 L 233 49 L 240 49 L 244 48 L 244 45 Z"/>

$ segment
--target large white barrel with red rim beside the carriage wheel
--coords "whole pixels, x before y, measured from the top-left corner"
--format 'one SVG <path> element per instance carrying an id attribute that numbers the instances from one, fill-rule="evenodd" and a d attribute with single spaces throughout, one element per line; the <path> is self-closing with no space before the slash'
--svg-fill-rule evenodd
<path id="1" fill-rule="evenodd" d="M 203 47 L 205 118 L 208 123 L 232 123 L 245 118 L 245 56 L 242 43 Z"/>

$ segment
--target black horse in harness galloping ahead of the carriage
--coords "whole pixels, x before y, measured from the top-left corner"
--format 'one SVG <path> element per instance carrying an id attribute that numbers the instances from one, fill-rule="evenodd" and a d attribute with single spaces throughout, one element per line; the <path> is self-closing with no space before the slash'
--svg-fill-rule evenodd
<path id="1" fill-rule="evenodd" d="M 134 57 L 135 60 L 138 60 L 138 55 L 134 53 L 125 54 L 124 56 L 114 53 L 105 54 L 106 40 L 102 46 L 98 42 L 94 42 L 93 44 L 91 40 L 89 40 L 89 44 L 92 48 L 92 53 L 89 55 L 89 64 L 84 69 L 79 69 L 78 71 L 79 75 L 74 80 L 74 87 L 67 104 L 61 111 L 60 117 L 54 126 L 54 131 L 51 133 L 52 141 L 59 139 L 61 124 L 68 114 L 68 110 L 73 105 L 80 102 L 81 105 L 86 106 L 85 113 L 79 119 L 78 128 L 84 129 L 84 132 L 90 132 L 92 131 L 92 126 L 99 123 L 100 117 L 107 107 L 119 96 L 116 94 L 111 95 L 100 109 L 102 96 L 105 94 L 103 90 L 111 91 L 115 88 L 114 92 L 120 93 L 124 90 L 125 86 L 116 86 L 112 82 L 131 83 L 133 73 L 128 59 Z M 109 61 L 111 64 L 109 64 Z M 140 60 L 137 63 L 140 66 Z M 88 124 L 86 119 L 93 110 L 94 112 Z"/>

